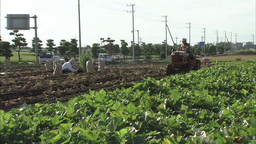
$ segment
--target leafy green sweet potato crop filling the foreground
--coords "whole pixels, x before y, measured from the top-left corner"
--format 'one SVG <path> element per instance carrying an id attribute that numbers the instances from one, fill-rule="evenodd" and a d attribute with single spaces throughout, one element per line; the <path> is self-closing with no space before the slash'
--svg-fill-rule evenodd
<path id="1" fill-rule="evenodd" d="M 255 61 L 0 111 L 1 143 L 255 144 Z M 238 137 L 240 136 L 240 137 Z"/>

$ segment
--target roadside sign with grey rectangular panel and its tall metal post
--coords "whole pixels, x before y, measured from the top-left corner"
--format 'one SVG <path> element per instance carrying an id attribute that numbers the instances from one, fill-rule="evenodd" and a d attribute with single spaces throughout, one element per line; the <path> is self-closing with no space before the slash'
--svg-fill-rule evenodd
<path id="1" fill-rule="evenodd" d="M 34 18 L 35 26 L 35 53 L 36 53 L 36 64 L 38 61 L 38 44 L 37 44 L 37 27 L 36 27 L 36 15 L 30 17 L 29 14 L 7 14 L 7 30 L 30 30 L 29 18 Z"/>

